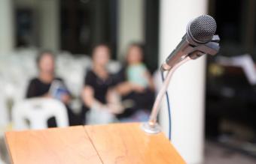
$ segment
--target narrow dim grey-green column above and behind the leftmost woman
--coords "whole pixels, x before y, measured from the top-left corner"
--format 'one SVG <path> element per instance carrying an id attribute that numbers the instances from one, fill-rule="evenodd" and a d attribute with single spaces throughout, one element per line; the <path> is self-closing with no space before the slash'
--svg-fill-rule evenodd
<path id="1" fill-rule="evenodd" d="M 40 22 L 40 47 L 42 49 L 58 50 L 60 40 L 59 0 L 38 1 Z"/>

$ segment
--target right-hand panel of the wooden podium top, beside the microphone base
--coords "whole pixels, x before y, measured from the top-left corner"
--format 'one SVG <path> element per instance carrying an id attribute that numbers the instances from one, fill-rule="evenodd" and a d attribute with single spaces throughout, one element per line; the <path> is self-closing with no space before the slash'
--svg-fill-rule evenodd
<path id="1" fill-rule="evenodd" d="M 140 124 L 111 124 L 84 127 L 105 164 L 183 164 L 168 139 L 148 135 Z"/>

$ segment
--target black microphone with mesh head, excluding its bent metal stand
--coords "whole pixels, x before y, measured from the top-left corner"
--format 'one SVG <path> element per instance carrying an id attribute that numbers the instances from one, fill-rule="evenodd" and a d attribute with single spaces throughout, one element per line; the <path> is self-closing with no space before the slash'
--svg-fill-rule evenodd
<path id="1" fill-rule="evenodd" d="M 166 58 L 161 70 L 170 70 L 186 56 L 196 59 L 204 54 L 215 55 L 220 49 L 218 44 L 220 38 L 215 35 L 216 28 L 215 19 L 209 15 L 198 16 L 190 21 L 187 24 L 186 34 Z"/>

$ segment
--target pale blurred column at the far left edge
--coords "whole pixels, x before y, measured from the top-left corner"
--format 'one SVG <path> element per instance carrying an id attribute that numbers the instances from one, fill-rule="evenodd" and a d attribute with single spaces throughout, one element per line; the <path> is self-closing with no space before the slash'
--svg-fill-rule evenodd
<path id="1" fill-rule="evenodd" d="M 0 55 L 14 49 L 13 1 L 0 0 Z"/>

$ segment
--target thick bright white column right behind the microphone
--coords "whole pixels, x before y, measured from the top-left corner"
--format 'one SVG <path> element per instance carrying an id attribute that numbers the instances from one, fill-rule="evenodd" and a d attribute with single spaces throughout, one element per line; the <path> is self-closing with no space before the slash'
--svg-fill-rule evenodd
<path id="1" fill-rule="evenodd" d="M 160 64 L 186 32 L 187 22 L 206 14 L 207 0 L 160 1 Z M 187 163 L 203 163 L 206 57 L 189 61 L 174 73 L 169 85 L 172 143 Z M 163 102 L 165 106 L 166 102 Z M 160 124 L 168 134 L 166 108 Z"/>

